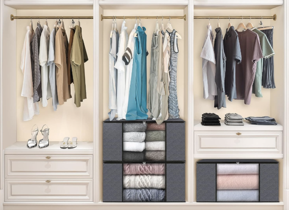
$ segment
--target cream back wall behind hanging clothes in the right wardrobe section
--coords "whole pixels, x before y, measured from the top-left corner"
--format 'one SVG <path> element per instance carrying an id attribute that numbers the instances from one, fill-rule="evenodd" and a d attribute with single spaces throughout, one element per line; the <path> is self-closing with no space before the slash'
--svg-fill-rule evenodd
<path id="1" fill-rule="evenodd" d="M 195 16 L 265 16 L 272 15 L 270 10 L 194 10 Z M 278 17 L 278 14 L 277 14 Z M 230 22 L 235 29 L 240 23 L 240 19 L 231 19 Z M 211 19 L 212 31 L 214 38 L 216 37 L 215 28 L 218 20 Z M 228 19 L 219 19 L 222 28 L 223 37 L 225 36 L 226 28 L 228 27 Z M 249 22 L 248 19 L 242 21 L 245 25 Z M 254 27 L 258 27 L 260 20 L 252 19 L 251 23 Z M 270 20 L 262 20 L 265 26 L 270 25 Z M 233 100 L 232 102 L 226 97 L 227 108 L 222 107 L 220 110 L 214 108 L 213 100 L 203 98 L 203 75 L 202 75 L 202 58 L 200 57 L 204 38 L 207 33 L 208 19 L 194 19 L 194 119 L 201 119 L 203 113 L 216 113 L 224 119 L 226 113 L 238 113 L 243 117 L 247 116 L 270 116 L 270 90 L 262 88 L 262 98 L 255 97 L 252 94 L 251 104 L 245 105 L 244 100 Z M 275 47 L 274 47 L 275 48 Z M 277 86 L 278 84 L 276 84 Z M 276 88 L 277 89 L 277 88 Z M 274 117 L 274 116 L 273 116 Z"/>

